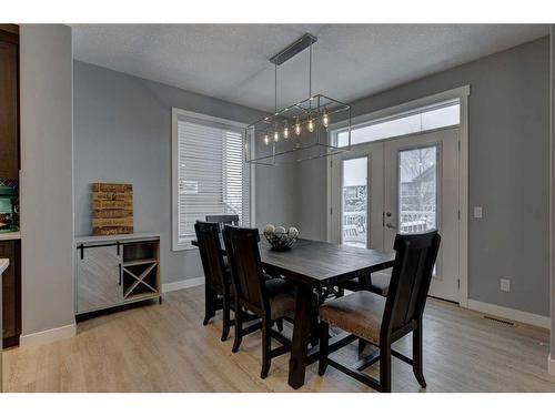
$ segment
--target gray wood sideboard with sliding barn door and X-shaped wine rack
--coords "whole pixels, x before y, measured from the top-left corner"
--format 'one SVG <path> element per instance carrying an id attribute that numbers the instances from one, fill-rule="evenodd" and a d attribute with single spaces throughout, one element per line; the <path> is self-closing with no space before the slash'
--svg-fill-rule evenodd
<path id="1" fill-rule="evenodd" d="M 159 235 L 75 239 L 77 315 L 161 296 Z"/>

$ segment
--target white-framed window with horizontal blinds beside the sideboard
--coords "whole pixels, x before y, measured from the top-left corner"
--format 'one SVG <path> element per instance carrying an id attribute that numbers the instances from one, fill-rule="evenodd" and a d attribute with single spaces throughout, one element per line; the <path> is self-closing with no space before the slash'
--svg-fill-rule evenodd
<path id="1" fill-rule="evenodd" d="M 251 169 L 243 124 L 173 109 L 173 250 L 191 246 L 194 222 L 238 214 L 251 224 Z"/>

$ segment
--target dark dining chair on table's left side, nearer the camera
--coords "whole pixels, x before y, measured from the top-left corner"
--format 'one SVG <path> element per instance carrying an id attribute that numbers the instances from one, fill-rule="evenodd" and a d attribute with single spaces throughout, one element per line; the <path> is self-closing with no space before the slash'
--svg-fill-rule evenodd
<path id="1" fill-rule="evenodd" d="M 235 288 L 235 311 L 248 312 L 262 318 L 262 327 L 251 325 L 243 328 L 241 313 L 235 317 L 235 339 L 232 352 L 236 353 L 243 336 L 256 329 L 262 329 L 262 372 L 265 378 L 270 372 L 273 357 L 291 351 L 291 342 L 272 329 L 274 323 L 280 323 L 295 311 L 295 287 L 285 280 L 268 278 L 260 260 L 258 229 L 243 229 L 225 225 L 223 240 L 228 260 L 231 266 L 231 277 Z M 271 349 L 271 338 L 274 337 L 282 346 Z"/>

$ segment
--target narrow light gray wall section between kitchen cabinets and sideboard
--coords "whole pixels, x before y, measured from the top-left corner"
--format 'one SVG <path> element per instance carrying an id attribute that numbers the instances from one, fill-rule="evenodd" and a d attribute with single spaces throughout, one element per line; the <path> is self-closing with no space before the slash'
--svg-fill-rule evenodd
<path id="1" fill-rule="evenodd" d="M 73 318 L 71 29 L 20 27 L 23 335 Z"/>

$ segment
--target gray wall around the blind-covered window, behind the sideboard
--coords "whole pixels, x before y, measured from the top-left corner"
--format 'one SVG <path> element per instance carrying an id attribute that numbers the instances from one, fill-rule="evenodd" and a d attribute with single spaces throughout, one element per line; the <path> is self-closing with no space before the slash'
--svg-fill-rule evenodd
<path id="1" fill-rule="evenodd" d="M 251 123 L 259 111 L 74 61 L 75 235 L 91 233 L 92 182 L 133 184 L 135 231 L 161 234 L 164 283 L 202 276 L 196 250 L 171 251 L 171 108 Z M 295 171 L 256 168 L 259 226 L 295 217 Z"/>

